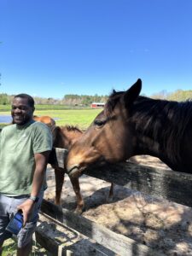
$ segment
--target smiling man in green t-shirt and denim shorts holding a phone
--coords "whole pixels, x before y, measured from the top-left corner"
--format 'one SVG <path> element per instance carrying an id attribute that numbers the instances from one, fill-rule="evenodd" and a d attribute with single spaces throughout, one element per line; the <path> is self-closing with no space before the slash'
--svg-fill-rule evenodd
<path id="1" fill-rule="evenodd" d="M 17 235 L 17 255 L 29 255 L 32 249 L 52 148 L 49 128 L 32 119 L 34 110 L 32 96 L 15 96 L 11 110 L 14 125 L 0 132 L 0 254 L 3 241 L 12 236 L 6 226 L 18 210 L 23 214 L 23 228 Z"/>

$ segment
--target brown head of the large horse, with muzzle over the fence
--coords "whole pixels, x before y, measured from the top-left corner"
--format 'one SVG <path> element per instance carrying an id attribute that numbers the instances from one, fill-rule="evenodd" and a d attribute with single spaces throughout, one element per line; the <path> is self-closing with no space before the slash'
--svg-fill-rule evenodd
<path id="1" fill-rule="evenodd" d="M 142 88 L 138 79 L 129 90 L 109 96 L 102 113 L 94 119 L 84 135 L 73 144 L 67 156 L 67 172 L 76 175 L 99 160 L 118 162 L 133 151 L 134 134 L 129 125 L 131 107 Z"/>

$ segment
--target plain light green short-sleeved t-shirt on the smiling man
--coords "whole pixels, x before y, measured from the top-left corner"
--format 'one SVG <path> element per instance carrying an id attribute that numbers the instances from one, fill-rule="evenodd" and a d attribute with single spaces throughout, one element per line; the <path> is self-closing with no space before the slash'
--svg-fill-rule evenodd
<path id="1" fill-rule="evenodd" d="M 0 193 L 27 195 L 32 190 L 34 154 L 51 150 L 52 135 L 40 122 L 8 125 L 0 132 Z"/>

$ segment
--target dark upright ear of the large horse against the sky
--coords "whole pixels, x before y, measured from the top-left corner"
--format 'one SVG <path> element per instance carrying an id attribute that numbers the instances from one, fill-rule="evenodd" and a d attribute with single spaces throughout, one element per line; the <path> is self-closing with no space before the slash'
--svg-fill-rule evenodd
<path id="1" fill-rule="evenodd" d="M 141 90 L 142 80 L 138 79 L 137 82 L 133 84 L 130 89 L 125 91 L 124 102 L 126 108 L 129 108 L 131 104 L 137 99 L 137 96 L 139 96 Z"/>

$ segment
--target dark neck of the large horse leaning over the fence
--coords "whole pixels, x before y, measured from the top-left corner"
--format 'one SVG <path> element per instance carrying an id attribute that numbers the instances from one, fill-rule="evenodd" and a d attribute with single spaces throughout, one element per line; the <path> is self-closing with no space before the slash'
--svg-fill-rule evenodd
<path id="1" fill-rule="evenodd" d="M 173 170 L 191 170 L 192 103 L 148 100 L 147 106 L 136 105 L 132 112 L 134 154 L 160 158 Z"/>

